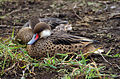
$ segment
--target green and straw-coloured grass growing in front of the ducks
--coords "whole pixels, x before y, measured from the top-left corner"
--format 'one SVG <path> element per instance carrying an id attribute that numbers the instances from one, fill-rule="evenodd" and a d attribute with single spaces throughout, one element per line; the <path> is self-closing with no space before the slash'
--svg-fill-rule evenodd
<path id="1" fill-rule="evenodd" d="M 34 68 L 45 68 L 46 70 L 54 69 L 56 72 L 64 73 L 62 79 L 71 79 L 84 77 L 86 79 L 100 78 L 105 74 L 100 73 L 103 67 L 97 67 L 97 64 L 92 60 L 85 59 L 83 54 L 77 56 L 81 60 L 70 57 L 69 53 L 57 54 L 56 56 L 44 58 L 42 61 L 31 58 L 25 50 L 26 45 L 13 43 L 14 30 L 9 38 L 0 39 L 0 75 L 19 68 L 22 72 L 21 79 L 25 78 L 26 74 L 35 74 Z M 110 52 L 110 51 L 109 51 Z M 108 52 L 108 54 L 109 54 Z M 26 72 L 28 71 L 28 72 Z M 11 72 L 12 73 L 12 72 Z M 19 73 L 19 72 L 18 72 Z M 105 78 L 106 79 L 106 78 Z"/>

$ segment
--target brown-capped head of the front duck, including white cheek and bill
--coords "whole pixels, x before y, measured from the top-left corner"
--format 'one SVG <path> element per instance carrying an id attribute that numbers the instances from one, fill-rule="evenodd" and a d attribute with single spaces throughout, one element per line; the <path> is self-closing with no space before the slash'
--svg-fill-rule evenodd
<path id="1" fill-rule="evenodd" d="M 28 42 L 29 45 L 35 43 L 39 38 L 45 38 L 51 35 L 51 27 L 44 22 L 37 23 L 33 29 L 33 37 Z"/>

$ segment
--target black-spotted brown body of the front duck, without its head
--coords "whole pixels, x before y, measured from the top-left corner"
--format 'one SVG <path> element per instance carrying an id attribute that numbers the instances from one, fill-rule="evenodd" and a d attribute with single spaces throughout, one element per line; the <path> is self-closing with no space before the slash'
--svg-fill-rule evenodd
<path id="1" fill-rule="evenodd" d="M 87 53 L 95 50 L 95 47 L 91 45 L 92 43 L 93 41 L 90 39 L 59 31 L 47 38 L 41 38 L 33 45 L 28 45 L 27 51 L 32 57 L 46 57 L 47 53 L 49 56 L 53 56 L 55 53 Z M 88 47 L 92 49 L 89 50 Z M 83 49 L 87 50 L 84 51 Z"/>

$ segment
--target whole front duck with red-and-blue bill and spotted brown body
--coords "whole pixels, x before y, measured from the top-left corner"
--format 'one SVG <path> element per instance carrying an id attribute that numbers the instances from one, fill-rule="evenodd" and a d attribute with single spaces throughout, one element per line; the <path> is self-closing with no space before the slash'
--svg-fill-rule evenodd
<path id="1" fill-rule="evenodd" d="M 51 57 L 56 53 L 68 52 L 88 53 L 96 49 L 93 44 L 97 41 L 86 37 L 71 35 L 63 29 L 59 31 L 54 29 L 52 32 L 51 27 L 46 23 L 38 23 L 35 25 L 35 29 L 34 35 L 27 43 L 26 48 L 31 57 L 47 57 L 48 54 Z M 47 31 L 47 33 L 45 31 Z"/>

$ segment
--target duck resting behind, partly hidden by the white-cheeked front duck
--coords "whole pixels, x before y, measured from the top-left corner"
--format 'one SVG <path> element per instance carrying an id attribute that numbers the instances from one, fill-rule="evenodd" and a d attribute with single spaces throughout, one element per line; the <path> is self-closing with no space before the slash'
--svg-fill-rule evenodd
<path id="1" fill-rule="evenodd" d="M 39 18 L 38 16 L 32 16 L 28 22 L 26 22 L 23 27 L 18 31 L 15 41 L 19 42 L 20 44 L 27 44 L 30 39 L 32 39 L 32 36 L 34 35 L 34 27 L 37 23 L 47 23 L 51 30 L 56 29 L 60 30 L 64 26 L 66 27 L 67 31 L 72 30 L 71 24 L 68 23 L 68 21 L 64 21 L 58 18 Z"/>

